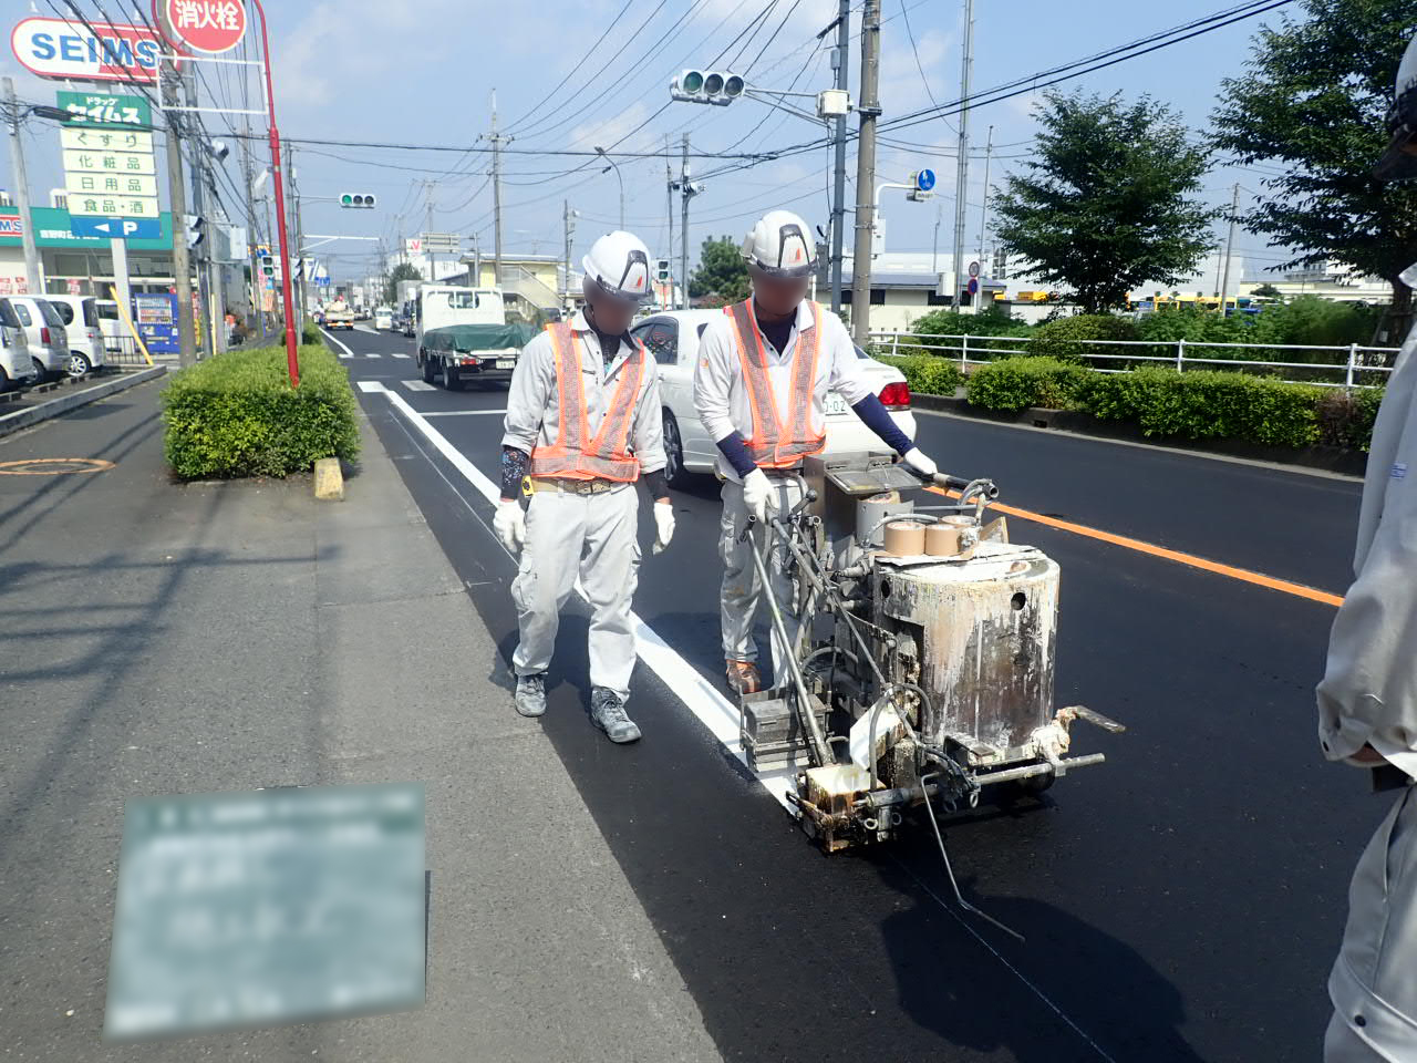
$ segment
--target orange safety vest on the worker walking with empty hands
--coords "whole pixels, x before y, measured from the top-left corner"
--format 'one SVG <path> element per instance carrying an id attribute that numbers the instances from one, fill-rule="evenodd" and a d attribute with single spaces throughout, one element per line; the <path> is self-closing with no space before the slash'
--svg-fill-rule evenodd
<path id="1" fill-rule="evenodd" d="M 633 350 L 621 366 L 619 384 L 609 410 L 592 438 L 585 421 L 581 351 L 571 326 L 563 322 L 547 325 L 546 330 L 551 336 L 555 357 L 557 405 L 561 415 L 555 442 L 531 451 L 531 475 L 635 482 L 639 479 L 639 458 L 629 451 L 629 429 L 635 420 L 639 386 L 645 378 L 645 347 L 633 340 Z"/>

